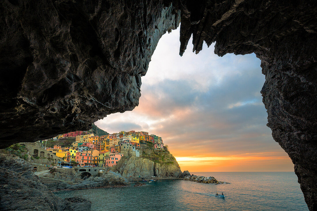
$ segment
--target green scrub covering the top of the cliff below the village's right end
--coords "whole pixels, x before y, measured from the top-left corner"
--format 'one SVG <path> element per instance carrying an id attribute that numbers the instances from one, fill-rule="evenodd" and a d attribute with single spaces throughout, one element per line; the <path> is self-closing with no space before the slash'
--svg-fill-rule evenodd
<path id="1" fill-rule="evenodd" d="M 154 144 L 152 142 L 145 141 L 146 147 L 142 147 L 142 158 L 152 160 L 154 163 L 160 164 L 173 164 L 176 163 L 175 157 L 164 147 L 164 150 L 154 150 Z"/>

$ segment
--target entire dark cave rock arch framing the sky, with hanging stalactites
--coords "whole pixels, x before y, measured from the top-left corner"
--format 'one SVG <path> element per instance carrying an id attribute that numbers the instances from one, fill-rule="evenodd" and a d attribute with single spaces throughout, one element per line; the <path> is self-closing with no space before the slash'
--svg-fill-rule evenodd
<path id="1" fill-rule="evenodd" d="M 181 22 L 180 54 L 255 53 L 268 127 L 317 210 L 317 9 L 313 0 L 0 3 L 1 146 L 87 130 L 132 110 L 159 38 Z M 42 135 L 43 131 L 47 135 Z"/>

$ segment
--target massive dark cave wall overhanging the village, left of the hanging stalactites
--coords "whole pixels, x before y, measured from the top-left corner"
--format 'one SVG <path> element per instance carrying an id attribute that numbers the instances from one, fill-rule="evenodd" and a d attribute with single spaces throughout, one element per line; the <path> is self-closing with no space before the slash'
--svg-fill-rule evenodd
<path id="1" fill-rule="evenodd" d="M 2 148 L 132 110 L 159 38 L 179 24 L 161 1 L 0 4 Z"/>

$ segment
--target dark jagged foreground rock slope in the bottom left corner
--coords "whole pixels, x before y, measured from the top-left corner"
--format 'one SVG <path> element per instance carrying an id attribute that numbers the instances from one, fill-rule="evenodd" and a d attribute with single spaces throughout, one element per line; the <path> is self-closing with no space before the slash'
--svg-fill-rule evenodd
<path id="1" fill-rule="evenodd" d="M 0 157 L 1 210 L 90 210 L 86 199 L 55 196 L 30 169 L 23 159 Z"/>

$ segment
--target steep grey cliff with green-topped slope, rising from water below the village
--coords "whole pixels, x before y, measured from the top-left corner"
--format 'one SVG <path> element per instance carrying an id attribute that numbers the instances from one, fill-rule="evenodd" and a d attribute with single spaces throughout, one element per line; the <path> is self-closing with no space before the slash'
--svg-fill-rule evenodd
<path id="1" fill-rule="evenodd" d="M 166 148 L 154 150 L 153 144 L 147 142 L 141 152 L 140 157 L 134 155 L 122 157 L 112 170 L 124 177 L 178 177 L 182 174 L 175 157 Z"/>

